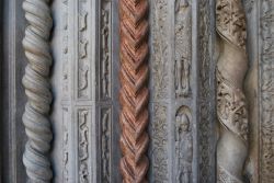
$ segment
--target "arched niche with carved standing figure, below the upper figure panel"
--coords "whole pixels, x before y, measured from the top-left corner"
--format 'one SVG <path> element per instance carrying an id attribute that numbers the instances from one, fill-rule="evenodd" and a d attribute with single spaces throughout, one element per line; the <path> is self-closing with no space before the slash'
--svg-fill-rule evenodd
<path id="1" fill-rule="evenodd" d="M 175 155 L 178 183 L 192 182 L 193 134 L 192 116 L 189 107 L 182 106 L 175 117 Z"/>

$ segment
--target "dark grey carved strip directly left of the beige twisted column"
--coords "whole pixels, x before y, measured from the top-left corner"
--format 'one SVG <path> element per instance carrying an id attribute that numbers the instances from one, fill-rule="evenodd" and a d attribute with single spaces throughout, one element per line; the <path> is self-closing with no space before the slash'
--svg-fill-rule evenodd
<path id="1" fill-rule="evenodd" d="M 198 182 L 215 182 L 215 60 L 213 59 L 214 22 L 213 1 L 201 0 L 198 4 Z M 210 11 L 212 10 L 212 11 Z M 212 23 L 213 22 L 213 23 Z"/>

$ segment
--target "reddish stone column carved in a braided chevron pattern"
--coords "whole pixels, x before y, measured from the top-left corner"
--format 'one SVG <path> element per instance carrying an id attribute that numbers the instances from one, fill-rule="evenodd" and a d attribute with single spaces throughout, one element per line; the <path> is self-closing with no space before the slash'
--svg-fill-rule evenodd
<path id="1" fill-rule="evenodd" d="M 147 182 L 149 167 L 145 155 L 149 141 L 146 131 L 149 94 L 147 11 L 147 0 L 119 0 L 121 173 L 124 183 Z"/>

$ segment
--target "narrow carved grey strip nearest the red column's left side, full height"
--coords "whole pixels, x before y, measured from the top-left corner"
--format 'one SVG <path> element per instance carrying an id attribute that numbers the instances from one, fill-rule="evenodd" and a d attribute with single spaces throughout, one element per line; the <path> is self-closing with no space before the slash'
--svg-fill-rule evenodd
<path id="1" fill-rule="evenodd" d="M 100 126 L 100 167 L 101 182 L 112 182 L 111 165 L 112 159 L 112 118 L 113 118 L 113 95 L 112 95 L 112 1 L 103 0 L 100 4 L 100 61 L 99 61 L 99 126 Z M 118 172 L 116 172 L 118 173 Z"/>

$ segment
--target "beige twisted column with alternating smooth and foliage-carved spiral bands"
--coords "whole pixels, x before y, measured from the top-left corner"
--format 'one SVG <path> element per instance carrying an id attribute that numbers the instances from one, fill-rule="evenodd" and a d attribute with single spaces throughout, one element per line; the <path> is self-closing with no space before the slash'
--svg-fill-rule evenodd
<path id="1" fill-rule="evenodd" d="M 241 0 L 217 0 L 220 36 L 217 62 L 217 175 L 219 183 L 242 183 L 248 149 L 248 111 L 243 80 L 248 69 L 246 15 Z"/>

